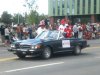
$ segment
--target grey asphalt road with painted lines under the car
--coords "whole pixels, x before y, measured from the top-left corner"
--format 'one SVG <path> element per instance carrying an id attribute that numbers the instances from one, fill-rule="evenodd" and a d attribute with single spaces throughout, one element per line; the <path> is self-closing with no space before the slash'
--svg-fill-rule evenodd
<path id="1" fill-rule="evenodd" d="M 81 55 L 55 55 L 51 59 L 27 57 L 18 59 L 0 47 L 0 75 L 99 75 L 100 39 L 88 41 Z"/>

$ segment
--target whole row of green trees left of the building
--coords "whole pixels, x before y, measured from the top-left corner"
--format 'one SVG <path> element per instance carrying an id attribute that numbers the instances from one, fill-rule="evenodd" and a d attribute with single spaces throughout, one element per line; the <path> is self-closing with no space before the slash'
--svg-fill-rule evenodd
<path id="1" fill-rule="evenodd" d="M 3 12 L 1 16 L 1 22 L 6 24 L 11 24 L 12 22 L 14 24 L 18 23 L 28 23 L 28 24 L 38 24 L 40 20 L 45 19 L 47 16 L 42 14 L 39 15 L 37 12 L 38 6 L 36 5 L 37 0 L 25 0 L 24 7 L 27 7 L 29 10 L 28 12 L 25 12 L 25 15 L 21 15 L 20 13 L 14 14 L 13 16 L 11 14 L 8 14 L 8 12 Z"/>

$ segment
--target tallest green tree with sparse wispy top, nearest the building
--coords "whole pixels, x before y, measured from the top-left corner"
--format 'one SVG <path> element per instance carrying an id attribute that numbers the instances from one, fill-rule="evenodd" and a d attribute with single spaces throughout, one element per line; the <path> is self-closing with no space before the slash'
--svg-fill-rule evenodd
<path id="1" fill-rule="evenodd" d="M 37 0 L 25 0 L 24 7 L 27 7 L 29 9 L 29 14 L 26 16 L 26 22 L 28 24 L 38 24 L 40 20 L 45 19 L 47 16 L 42 14 L 39 15 L 37 12 L 38 6 L 36 5 Z"/>

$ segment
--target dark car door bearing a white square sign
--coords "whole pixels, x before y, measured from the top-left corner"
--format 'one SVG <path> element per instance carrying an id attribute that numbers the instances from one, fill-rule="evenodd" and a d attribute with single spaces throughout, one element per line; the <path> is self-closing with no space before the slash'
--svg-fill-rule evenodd
<path id="1" fill-rule="evenodd" d="M 73 40 L 71 39 L 59 39 L 57 41 L 53 41 L 53 48 L 55 52 L 72 51 L 72 44 Z"/>

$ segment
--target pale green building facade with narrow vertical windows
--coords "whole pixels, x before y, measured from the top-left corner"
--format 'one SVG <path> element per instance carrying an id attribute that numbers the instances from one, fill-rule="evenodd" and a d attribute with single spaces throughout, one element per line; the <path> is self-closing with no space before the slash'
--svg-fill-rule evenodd
<path id="1" fill-rule="evenodd" d="M 48 0 L 50 19 L 69 17 L 100 21 L 100 0 Z"/>

